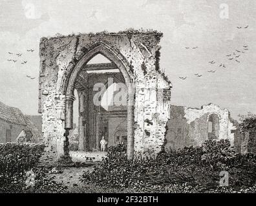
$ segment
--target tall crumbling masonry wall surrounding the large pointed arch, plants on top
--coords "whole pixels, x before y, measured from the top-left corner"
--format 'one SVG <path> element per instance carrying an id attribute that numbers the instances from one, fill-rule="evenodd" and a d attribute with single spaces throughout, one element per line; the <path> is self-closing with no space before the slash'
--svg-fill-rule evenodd
<path id="1" fill-rule="evenodd" d="M 118 59 L 129 73 L 134 89 L 134 151 L 160 151 L 171 98 L 171 83 L 159 66 L 160 37 L 162 33 L 158 32 L 130 31 L 41 39 L 39 113 L 43 118 L 45 160 L 56 161 L 64 154 L 65 102 L 72 98 L 67 96 L 67 86 L 72 73 L 81 70 L 83 58 L 93 51 Z"/>

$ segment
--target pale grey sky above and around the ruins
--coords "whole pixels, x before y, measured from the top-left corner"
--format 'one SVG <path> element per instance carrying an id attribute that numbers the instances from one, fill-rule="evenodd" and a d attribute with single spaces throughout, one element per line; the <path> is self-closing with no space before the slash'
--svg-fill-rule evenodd
<path id="1" fill-rule="evenodd" d="M 255 19 L 255 0 L 0 0 L 0 101 L 37 115 L 41 37 L 152 28 L 171 104 L 256 113 Z"/>

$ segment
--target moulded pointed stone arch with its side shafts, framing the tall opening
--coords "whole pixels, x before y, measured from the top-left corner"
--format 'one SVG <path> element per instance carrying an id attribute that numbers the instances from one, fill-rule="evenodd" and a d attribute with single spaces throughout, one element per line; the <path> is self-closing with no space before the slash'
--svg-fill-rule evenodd
<path id="1" fill-rule="evenodd" d="M 74 59 L 76 59 L 76 64 L 73 66 L 72 70 L 70 70 L 71 74 L 69 77 L 69 81 L 66 81 L 64 88 L 67 90 L 66 100 L 65 100 L 65 144 L 64 144 L 64 154 L 65 158 L 69 158 L 69 130 L 72 129 L 73 126 L 73 102 L 74 102 L 74 85 L 76 82 L 76 78 L 81 71 L 81 68 L 87 62 L 89 62 L 95 55 L 99 53 L 109 59 L 111 62 L 114 62 L 118 69 L 121 71 L 123 75 L 123 79 L 125 80 L 125 84 L 127 86 L 127 158 L 133 159 L 134 154 L 134 136 L 133 136 L 133 126 L 134 126 L 134 91 L 133 91 L 133 75 L 129 74 L 129 68 L 125 67 L 128 65 L 125 62 L 125 59 L 121 59 L 122 54 L 118 51 L 114 50 L 107 45 L 107 42 L 95 42 L 93 44 L 86 45 L 83 47 L 82 52 L 78 53 Z M 86 51 L 83 52 L 83 51 Z"/>

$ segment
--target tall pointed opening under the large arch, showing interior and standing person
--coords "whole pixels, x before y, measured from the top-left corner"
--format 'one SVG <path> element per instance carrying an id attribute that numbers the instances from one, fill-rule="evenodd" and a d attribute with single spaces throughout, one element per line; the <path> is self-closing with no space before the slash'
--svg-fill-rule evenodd
<path id="1" fill-rule="evenodd" d="M 70 150 L 107 151 L 127 141 L 127 86 L 114 62 L 97 54 L 83 64 L 74 80 L 74 96 Z"/>

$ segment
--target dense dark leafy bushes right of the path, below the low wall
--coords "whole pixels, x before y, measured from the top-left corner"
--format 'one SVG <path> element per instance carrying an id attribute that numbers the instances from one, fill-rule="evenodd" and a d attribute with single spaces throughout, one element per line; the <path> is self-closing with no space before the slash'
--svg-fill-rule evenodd
<path id="1" fill-rule="evenodd" d="M 229 186 L 220 187 L 220 172 Z M 207 140 L 201 147 L 163 151 L 127 160 L 126 145 L 109 148 L 106 158 L 81 181 L 136 192 L 255 192 L 256 157 L 236 154 L 228 140 Z"/>

